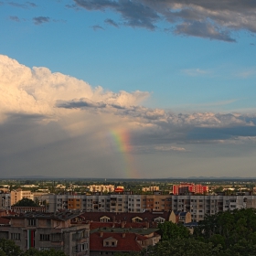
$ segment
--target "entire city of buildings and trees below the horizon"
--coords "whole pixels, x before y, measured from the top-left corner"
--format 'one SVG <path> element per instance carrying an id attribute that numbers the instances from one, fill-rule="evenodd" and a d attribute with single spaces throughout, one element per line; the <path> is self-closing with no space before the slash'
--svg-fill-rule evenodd
<path id="1" fill-rule="evenodd" d="M 255 255 L 255 184 L 2 179 L 0 255 Z"/>

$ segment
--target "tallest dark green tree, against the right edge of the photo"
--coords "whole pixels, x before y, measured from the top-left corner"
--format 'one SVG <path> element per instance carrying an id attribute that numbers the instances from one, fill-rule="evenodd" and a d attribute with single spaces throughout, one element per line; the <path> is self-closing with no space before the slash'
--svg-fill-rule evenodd
<path id="1" fill-rule="evenodd" d="M 256 255 L 256 209 L 242 208 L 206 216 L 198 223 L 194 236 L 221 245 L 224 255 Z"/>

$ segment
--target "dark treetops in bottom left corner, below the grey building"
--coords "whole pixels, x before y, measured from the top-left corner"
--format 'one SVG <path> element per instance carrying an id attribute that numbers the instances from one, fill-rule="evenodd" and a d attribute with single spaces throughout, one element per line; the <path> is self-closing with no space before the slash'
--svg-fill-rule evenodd
<path id="1" fill-rule="evenodd" d="M 22 251 L 13 240 L 0 239 L 0 256 L 66 256 L 63 251 L 38 251 L 30 248 Z"/>

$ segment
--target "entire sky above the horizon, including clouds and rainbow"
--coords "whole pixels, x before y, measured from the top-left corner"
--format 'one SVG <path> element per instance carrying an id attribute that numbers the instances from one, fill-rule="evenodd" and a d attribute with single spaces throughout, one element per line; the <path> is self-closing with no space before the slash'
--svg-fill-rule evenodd
<path id="1" fill-rule="evenodd" d="M 0 177 L 255 177 L 254 0 L 0 0 Z"/>

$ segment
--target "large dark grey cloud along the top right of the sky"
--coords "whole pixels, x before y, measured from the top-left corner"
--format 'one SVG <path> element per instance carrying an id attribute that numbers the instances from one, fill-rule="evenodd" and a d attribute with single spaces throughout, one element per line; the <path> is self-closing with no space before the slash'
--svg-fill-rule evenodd
<path id="1" fill-rule="evenodd" d="M 176 35 L 205 37 L 234 42 L 231 33 L 248 30 L 256 33 L 256 1 L 252 0 L 73 0 L 89 11 L 112 11 L 130 27 L 155 30 L 167 21 Z"/>

